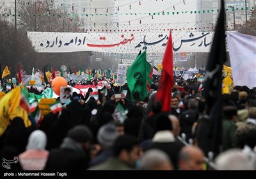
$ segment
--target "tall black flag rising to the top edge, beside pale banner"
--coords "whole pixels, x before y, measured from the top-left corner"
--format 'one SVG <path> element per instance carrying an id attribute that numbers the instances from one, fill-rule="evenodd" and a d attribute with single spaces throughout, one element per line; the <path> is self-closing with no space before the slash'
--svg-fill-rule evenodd
<path id="1" fill-rule="evenodd" d="M 211 118 L 212 152 L 215 154 L 220 153 L 221 146 L 222 68 L 226 60 L 225 6 L 224 0 L 221 0 L 221 10 L 212 41 L 211 52 L 207 61 L 203 91 L 203 96 L 207 104 L 207 114 Z"/>

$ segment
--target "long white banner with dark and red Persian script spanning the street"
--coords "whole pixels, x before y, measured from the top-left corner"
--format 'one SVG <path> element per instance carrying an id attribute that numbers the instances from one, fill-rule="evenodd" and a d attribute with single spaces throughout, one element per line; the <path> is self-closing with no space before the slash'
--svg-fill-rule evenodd
<path id="1" fill-rule="evenodd" d="M 169 33 L 54 33 L 28 32 L 36 52 L 96 51 L 164 53 Z M 173 52 L 209 52 L 213 32 L 173 32 Z"/>

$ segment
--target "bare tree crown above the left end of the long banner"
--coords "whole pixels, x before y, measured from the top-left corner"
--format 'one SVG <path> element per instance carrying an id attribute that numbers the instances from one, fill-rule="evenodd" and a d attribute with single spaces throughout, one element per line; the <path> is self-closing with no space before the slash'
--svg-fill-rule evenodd
<path id="1" fill-rule="evenodd" d="M 19 0 L 17 3 L 18 26 L 26 31 L 70 31 L 81 26 L 77 15 L 66 12 L 51 0 Z"/>

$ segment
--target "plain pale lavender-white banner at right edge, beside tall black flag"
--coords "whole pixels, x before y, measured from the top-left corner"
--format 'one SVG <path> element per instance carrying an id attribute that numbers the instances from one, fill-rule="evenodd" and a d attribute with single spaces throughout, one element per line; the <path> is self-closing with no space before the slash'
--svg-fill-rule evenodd
<path id="1" fill-rule="evenodd" d="M 228 33 L 234 86 L 256 87 L 256 36 Z"/>

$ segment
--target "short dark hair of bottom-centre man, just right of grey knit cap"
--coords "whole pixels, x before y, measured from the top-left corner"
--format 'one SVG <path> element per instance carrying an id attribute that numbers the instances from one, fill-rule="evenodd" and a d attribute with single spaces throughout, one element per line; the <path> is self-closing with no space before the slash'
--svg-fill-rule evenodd
<path id="1" fill-rule="evenodd" d="M 122 150 L 127 150 L 131 152 L 134 146 L 138 146 L 138 141 L 134 136 L 125 134 L 124 136 L 119 136 L 113 145 L 113 155 L 118 157 Z"/>

